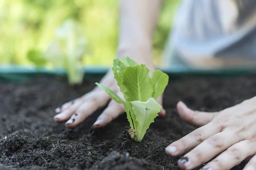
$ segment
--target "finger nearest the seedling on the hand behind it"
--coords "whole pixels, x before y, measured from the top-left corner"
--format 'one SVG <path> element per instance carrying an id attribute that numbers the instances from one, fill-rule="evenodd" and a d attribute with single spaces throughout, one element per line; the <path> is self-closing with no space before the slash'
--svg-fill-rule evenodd
<path id="1" fill-rule="evenodd" d="M 96 122 L 93 124 L 94 128 L 104 127 L 110 123 L 113 119 L 116 119 L 120 114 L 124 113 L 125 108 L 122 104 L 116 103 L 114 100 L 111 100 L 108 107 L 102 112 L 98 117 Z"/>

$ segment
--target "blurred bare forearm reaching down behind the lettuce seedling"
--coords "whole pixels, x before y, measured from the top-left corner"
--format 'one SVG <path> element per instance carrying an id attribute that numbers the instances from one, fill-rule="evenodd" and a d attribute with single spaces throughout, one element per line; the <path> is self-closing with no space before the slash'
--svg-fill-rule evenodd
<path id="1" fill-rule="evenodd" d="M 151 40 L 161 4 L 162 0 L 120 0 L 119 57 L 151 59 Z"/>

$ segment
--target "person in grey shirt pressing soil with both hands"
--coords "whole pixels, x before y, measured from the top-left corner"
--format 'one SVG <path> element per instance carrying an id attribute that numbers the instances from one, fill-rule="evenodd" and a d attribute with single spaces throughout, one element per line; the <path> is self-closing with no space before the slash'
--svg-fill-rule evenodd
<path id="1" fill-rule="evenodd" d="M 151 39 L 161 0 L 121 0 L 119 45 L 116 57 L 129 56 L 154 71 Z M 184 0 L 177 11 L 167 44 L 170 65 L 186 67 L 253 66 L 256 54 L 255 0 Z M 166 60 L 165 60 L 166 62 Z M 101 83 L 122 98 L 112 71 Z M 162 104 L 162 97 L 157 99 Z M 187 122 L 200 126 L 166 147 L 170 156 L 185 154 L 178 165 L 191 170 L 213 159 L 204 170 L 227 170 L 249 159 L 244 170 L 256 169 L 256 97 L 216 113 L 192 111 L 183 102 L 177 110 Z M 80 98 L 56 109 L 56 122 L 76 127 L 99 108 L 108 105 L 94 123 L 104 127 L 124 112 L 122 104 L 96 87 Z M 162 109 L 160 116 L 165 115 Z"/>

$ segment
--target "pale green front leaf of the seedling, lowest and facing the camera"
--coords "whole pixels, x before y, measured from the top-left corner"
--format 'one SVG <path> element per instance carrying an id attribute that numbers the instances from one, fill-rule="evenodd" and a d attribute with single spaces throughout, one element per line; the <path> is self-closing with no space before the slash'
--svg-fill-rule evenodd
<path id="1" fill-rule="evenodd" d="M 148 99 L 146 102 L 133 101 L 132 110 L 136 115 L 136 120 L 134 122 L 136 130 L 136 141 L 140 142 L 149 125 L 154 122 L 154 119 L 158 116 L 158 112 L 161 110 L 162 106 L 159 105 L 154 98 Z"/>

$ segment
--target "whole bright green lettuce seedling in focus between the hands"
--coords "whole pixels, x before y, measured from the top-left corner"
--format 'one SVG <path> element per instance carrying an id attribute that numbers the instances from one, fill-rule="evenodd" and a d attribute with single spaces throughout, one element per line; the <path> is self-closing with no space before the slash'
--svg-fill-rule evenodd
<path id="1" fill-rule="evenodd" d="M 131 126 L 128 132 L 131 138 L 140 142 L 162 108 L 156 99 L 166 88 L 169 77 L 160 70 L 153 71 L 150 77 L 146 65 L 138 65 L 129 57 L 114 59 L 112 70 L 125 101 L 104 85 L 97 82 L 96 85 L 105 90 L 111 99 L 124 105 Z"/>

